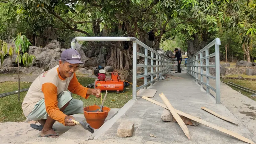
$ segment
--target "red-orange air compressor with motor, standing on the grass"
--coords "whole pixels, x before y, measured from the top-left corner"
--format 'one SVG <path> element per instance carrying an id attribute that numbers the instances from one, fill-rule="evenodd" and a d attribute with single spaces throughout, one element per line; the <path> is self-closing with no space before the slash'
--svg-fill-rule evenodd
<path id="1" fill-rule="evenodd" d="M 124 91 L 124 82 L 120 80 L 120 74 L 116 71 L 110 72 L 111 79 L 106 79 L 104 69 L 96 69 L 94 70 L 94 75 L 98 77 L 94 81 L 94 88 L 100 89 L 102 91 L 116 91 L 116 93 L 120 93 Z"/>

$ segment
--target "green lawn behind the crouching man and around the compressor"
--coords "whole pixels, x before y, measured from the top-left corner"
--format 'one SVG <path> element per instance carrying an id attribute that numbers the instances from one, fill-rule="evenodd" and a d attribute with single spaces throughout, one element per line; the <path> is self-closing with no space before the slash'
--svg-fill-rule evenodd
<path id="1" fill-rule="evenodd" d="M 94 83 L 94 78 L 88 78 L 85 76 L 77 76 L 78 81 L 83 85 L 87 86 L 88 84 Z M 21 82 L 21 89 L 29 88 L 31 83 Z M 109 108 L 121 108 L 124 104 L 132 99 L 132 85 L 126 87 L 124 93 L 116 94 L 116 92 L 108 92 L 108 96 L 104 102 L 104 106 Z M 18 82 L 4 82 L 0 83 L 0 93 L 12 92 L 18 90 Z M 18 94 L 9 95 L 4 98 L 0 98 L 0 122 L 22 122 L 26 120 L 26 117 L 23 115 L 21 104 L 26 96 L 27 92 L 20 93 L 20 102 L 18 102 Z M 104 97 L 105 93 L 102 93 Z M 91 95 L 87 100 L 84 98 L 72 94 L 72 97 L 75 99 L 82 100 L 84 106 L 89 105 L 100 105 L 100 99 L 95 100 L 95 96 Z M 103 98 L 102 98 L 103 99 Z"/>

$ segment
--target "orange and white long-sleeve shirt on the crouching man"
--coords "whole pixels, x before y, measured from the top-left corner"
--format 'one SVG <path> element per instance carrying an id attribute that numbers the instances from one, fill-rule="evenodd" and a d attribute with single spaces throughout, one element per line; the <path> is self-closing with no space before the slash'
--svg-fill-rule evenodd
<path id="1" fill-rule="evenodd" d="M 45 102 L 45 108 L 48 115 L 65 125 L 65 116 L 63 112 L 58 108 L 57 95 L 60 92 L 69 90 L 72 93 L 80 95 L 87 99 L 88 88 L 82 86 L 77 78 L 76 73 L 71 77 L 62 78 L 59 73 L 59 65 L 44 72 L 36 78 L 36 80 L 30 85 L 29 90 L 23 100 L 22 110 L 25 116 L 28 116 L 36 103 L 42 99 Z"/>

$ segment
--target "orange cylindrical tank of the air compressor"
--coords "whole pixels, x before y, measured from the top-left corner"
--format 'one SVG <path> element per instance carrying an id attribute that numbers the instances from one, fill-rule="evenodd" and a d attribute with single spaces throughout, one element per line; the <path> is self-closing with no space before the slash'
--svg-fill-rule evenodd
<path id="1" fill-rule="evenodd" d="M 123 81 L 111 81 L 111 80 L 105 80 L 105 81 L 94 81 L 94 88 L 100 89 L 102 91 L 124 91 L 124 82 Z"/>

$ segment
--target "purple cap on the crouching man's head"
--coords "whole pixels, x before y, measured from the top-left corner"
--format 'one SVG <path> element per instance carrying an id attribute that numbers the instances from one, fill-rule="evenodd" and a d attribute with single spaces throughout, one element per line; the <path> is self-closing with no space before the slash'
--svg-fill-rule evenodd
<path id="1" fill-rule="evenodd" d="M 60 60 L 65 60 L 71 64 L 77 64 L 77 63 L 84 64 L 82 61 L 80 61 L 81 55 L 75 49 L 67 49 L 61 52 Z"/>

